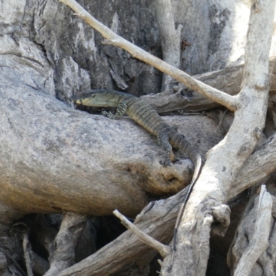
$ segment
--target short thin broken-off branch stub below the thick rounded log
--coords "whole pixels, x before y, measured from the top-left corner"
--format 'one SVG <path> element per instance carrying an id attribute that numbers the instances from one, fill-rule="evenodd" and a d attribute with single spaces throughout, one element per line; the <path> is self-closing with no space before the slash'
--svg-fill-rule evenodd
<path id="1" fill-rule="evenodd" d="M 157 250 L 162 257 L 165 257 L 166 255 L 170 254 L 171 250 L 169 246 L 165 246 L 164 244 L 161 244 L 161 242 L 158 242 L 156 239 L 153 239 L 146 233 L 144 233 L 142 230 L 137 228 L 134 224 L 132 224 L 124 215 L 121 215 L 118 210 L 115 210 L 114 215 L 121 219 L 121 223 L 126 226 L 132 233 L 137 235 L 137 237 L 141 240 L 141 242 L 144 242 L 145 244 L 148 244 L 148 246 L 154 248 Z"/>

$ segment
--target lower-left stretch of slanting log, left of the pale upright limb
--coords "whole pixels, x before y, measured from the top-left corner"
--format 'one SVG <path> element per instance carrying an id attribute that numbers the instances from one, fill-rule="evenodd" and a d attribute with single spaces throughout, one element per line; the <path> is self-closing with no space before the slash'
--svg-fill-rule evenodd
<path id="1" fill-rule="evenodd" d="M 135 226 L 159 242 L 168 244 L 172 239 L 179 207 L 187 191 L 188 188 L 185 188 L 168 199 L 150 203 L 136 217 Z M 107 275 L 107 272 L 111 275 L 132 262 L 146 264 L 155 255 L 155 250 L 149 248 L 138 239 L 137 235 L 127 230 L 95 254 L 63 270 L 59 276 Z"/>

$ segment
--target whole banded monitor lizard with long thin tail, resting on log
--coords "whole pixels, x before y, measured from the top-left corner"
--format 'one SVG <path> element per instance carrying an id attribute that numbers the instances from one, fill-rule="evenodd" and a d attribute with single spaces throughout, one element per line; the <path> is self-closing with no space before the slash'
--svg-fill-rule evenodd
<path id="1" fill-rule="evenodd" d="M 170 166 L 170 161 L 174 161 L 175 159 L 172 147 L 183 150 L 188 157 L 192 159 L 195 166 L 195 172 L 184 203 L 181 205 L 177 216 L 177 223 L 175 225 L 176 238 L 177 228 L 184 212 L 186 202 L 188 201 L 188 197 L 192 192 L 195 181 L 199 176 L 201 168 L 201 156 L 199 155 L 199 152 L 197 152 L 197 150 L 195 150 L 195 148 L 193 148 L 193 146 L 185 139 L 184 135 L 179 134 L 175 128 L 168 126 L 168 124 L 159 117 L 158 113 L 148 103 L 135 96 L 115 90 L 99 89 L 88 90 L 87 92 L 73 96 L 72 99 L 83 106 L 117 108 L 115 115 L 111 112 L 102 112 L 103 115 L 106 115 L 110 119 L 119 119 L 119 117 L 126 113 L 140 126 L 148 130 L 148 132 L 157 136 L 158 144 L 166 150 L 166 161 L 163 164 L 164 166 Z M 176 249 L 175 238 L 174 249 Z"/>

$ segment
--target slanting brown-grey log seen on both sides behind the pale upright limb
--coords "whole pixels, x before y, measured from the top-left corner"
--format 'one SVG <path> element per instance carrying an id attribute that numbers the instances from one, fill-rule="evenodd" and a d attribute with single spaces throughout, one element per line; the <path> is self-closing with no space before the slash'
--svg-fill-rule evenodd
<path id="1" fill-rule="evenodd" d="M 276 137 L 270 137 L 262 149 L 250 156 L 235 181 L 231 197 L 262 181 L 264 177 L 270 175 L 270 172 L 276 170 L 275 146 Z M 172 238 L 177 213 L 187 191 L 188 187 L 173 197 L 156 201 L 153 206 L 152 204 L 146 206 L 135 220 L 135 225 L 151 237 L 166 244 Z M 273 206 L 276 206 L 276 200 Z M 148 211 L 149 208 L 151 209 Z M 276 233 L 276 230 L 274 232 Z M 137 252 L 138 246 L 139 253 Z M 272 249 L 271 252 L 275 251 Z M 106 271 L 112 274 L 132 262 L 148 262 L 153 255 L 155 251 L 149 250 L 148 246 L 142 244 L 137 236 L 128 230 L 97 253 L 63 270 L 60 276 L 102 275 Z"/>

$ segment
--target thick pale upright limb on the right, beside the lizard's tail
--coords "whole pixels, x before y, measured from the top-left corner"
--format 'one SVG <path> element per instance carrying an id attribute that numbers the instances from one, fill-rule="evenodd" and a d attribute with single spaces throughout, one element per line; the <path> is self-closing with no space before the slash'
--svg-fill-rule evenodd
<path id="1" fill-rule="evenodd" d="M 209 256 L 206 244 L 209 237 L 202 223 L 208 215 L 208 210 L 228 200 L 235 178 L 253 152 L 264 128 L 274 8 L 275 1 L 252 2 L 242 90 L 239 95 L 234 96 L 238 107 L 235 119 L 224 140 L 208 152 L 206 164 L 188 201 L 178 230 L 178 246 L 172 271 L 164 270 L 162 275 L 204 275 L 206 272 Z M 265 28 L 262 24 L 264 21 Z M 218 222 L 223 221 L 224 219 Z M 169 264 L 169 257 L 166 257 L 164 266 L 169 267 Z"/>

